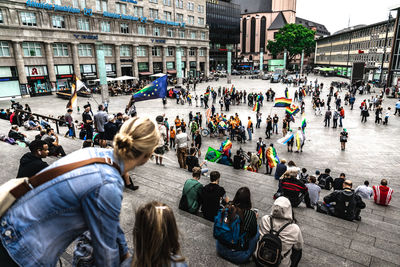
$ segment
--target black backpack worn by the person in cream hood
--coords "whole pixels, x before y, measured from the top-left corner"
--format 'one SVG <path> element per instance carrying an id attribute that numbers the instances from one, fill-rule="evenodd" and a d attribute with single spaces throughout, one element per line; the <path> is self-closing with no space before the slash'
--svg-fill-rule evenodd
<path id="1" fill-rule="evenodd" d="M 283 225 L 278 231 L 273 229 L 272 216 L 269 217 L 269 221 L 269 232 L 263 235 L 257 243 L 256 262 L 259 266 L 279 266 L 282 258 L 286 256 L 282 256 L 282 240 L 279 238 L 279 234 L 288 225 L 292 224 L 292 221 Z"/>

